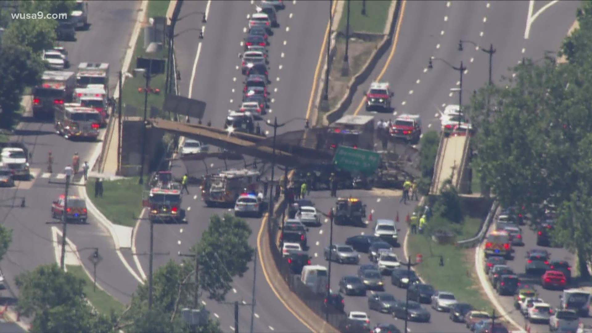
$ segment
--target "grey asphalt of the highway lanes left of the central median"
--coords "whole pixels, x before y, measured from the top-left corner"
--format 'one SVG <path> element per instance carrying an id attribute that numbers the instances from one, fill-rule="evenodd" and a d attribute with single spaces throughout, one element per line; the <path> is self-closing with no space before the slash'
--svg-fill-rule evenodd
<path id="1" fill-rule="evenodd" d="M 329 1 L 285 1 L 286 9 L 278 12 L 280 27 L 274 28 L 274 36 L 269 37 L 269 86 L 270 108 L 266 119 L 278 117 L 282 123 L 295 117 L 305 117 L 313 79 L 317 79 L 317 62 L 323 44 L 324 31 L 329 21 Z M 198 38 L 202 15 L 207 12 L 204 39 Z M 247 15 L 255 12 L 255 4 L 249 1 L 187 1 L 184 3 L 175 40 L 176 60 L 182 80 L 179 94 L 203 100 L 207 110 L 203 123 L 211 121 L 214 127 L 223 127 L 227 111 L 240 105 L 243 76 L 240 73 L 238 53 L 243 52 L 242 40 L 246 36 Z M 317 67 L 316 67 L 317 66 Z M 197 122 L 191 119 L 192 123 Z M 269 130 L 261 124 L 263 130 Z M 304 128 L 304 120 L 292 121 L 278 129 L 279 133 Z M 215 148 L 214 148 L 215 149 Z M 252 159 L 247 158 L 247 163 Z M 208 159 L 208 172 L 223 169 L 219 159 Z M 243 161 L 228 161 L 229 168 L 242 168 Z M 173 172 L 181 175 L 186 170 L 191 175 L 205 174 L 202 162 L 188 162 L 185 165 L 176 161 Z M 269 176 L 269 175 L 268 175 Z M 276 173 L 276 177 L 278 174 Z M 207 228 L 212 214 L 232 213 L 226 209 L 210 209 L 201 201 L 200 188 L 190 186 L 190 195 L 184 196 L 187 211 L 186 225 L 155 225 L 155 252 L 169 252 L 170 255 L 155 256 L 155 267 L 168 260 L 178 260 L 177 253 L 188 249 L 200 239 Z M 197 194 L 197 197 L 194 196 Z M 250 244 L 256 246 L 260 219 L 246 219 L 253 233 Z M 149 246 L 149 225 L 141 222 L 136 231 L 136 251 L 147 252 Z M 179 245 L 179 241 L 181 242 Z M 259 261 L 259 258 L 257 258 Z M 148 258 L 139 258 L 142 270 L 147 274 Z M 221 274 L 224 274 L 222 272 Z M 226 302 L 235 300 L 250 303 L 253 288 L 253 264 L 244 277 L 234 278 L 233 290 Z M 256 267 L 256 307 L 255 332 L 307 332 L 310 329 L 302 324 L 282 305 L 272 292 L 258 262 Z M 233 306 L 201 298 L 202 304 L 210 310 L 213 319 L 220 321 L 224 331 L 234 330 Z M 250 306 L 241 306 L 239 326 L 245 330 L 250 325 Z"/>

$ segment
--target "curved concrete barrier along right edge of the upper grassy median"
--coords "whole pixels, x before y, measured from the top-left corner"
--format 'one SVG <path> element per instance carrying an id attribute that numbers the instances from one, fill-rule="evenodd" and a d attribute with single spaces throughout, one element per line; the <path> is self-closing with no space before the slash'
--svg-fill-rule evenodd
<path id="1" fill-rule="evenodd" d="M 401 12 L 401 4 L 402 2 L 399 0 L 395 4 L 394 15 L 392 16 L 391 25 L 388 29 L 388 34 L 383 37 L 382 42 L 379 44 L 378 48 L 372 53 L 368 62 L 363 67 L 362 71 L 359 72 L 356 76 L 354 76 L 348 84 L 348 93 L 339 101 L 337 107 L 330 110 L 327 114 L 325 114 L 323 123 L 330 124 L 343 117 L 343 114 L 348 110 L 350 105 L 352 104 L 353 97 L 358 93 L 358 88 L 362 85 L 368 77 L 371 75 L 372 71 L 374 71 L 375 66 L 378 63 L 378 60 L 387 52 L 387 50 L 392 45 L 392 37 L 394 36 L 395 28 L 397 27 L 397 22 L 399 20 L 399 14 Z M 370 34 L 365 33 L 358 33 L 360 36 L 368 36 Z M 372 34 L 375 35 L 375 34 Z M 352 34 L 353 36 L 353 34 Z"/>

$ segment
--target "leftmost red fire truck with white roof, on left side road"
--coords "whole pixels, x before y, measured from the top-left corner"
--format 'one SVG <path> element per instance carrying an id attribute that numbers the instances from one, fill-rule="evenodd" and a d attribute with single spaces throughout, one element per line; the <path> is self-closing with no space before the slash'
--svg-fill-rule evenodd
<path id="1" fill-rule="evenodd" d="M 33 88 L 33 117 L 51 119 L 56 108 L 72 100 L 74 72 L 45 71 L 41 84 Z"/>

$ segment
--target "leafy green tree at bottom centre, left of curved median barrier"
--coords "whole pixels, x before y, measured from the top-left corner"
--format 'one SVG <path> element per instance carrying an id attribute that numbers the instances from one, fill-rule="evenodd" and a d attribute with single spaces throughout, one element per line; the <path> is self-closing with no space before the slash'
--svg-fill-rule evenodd
<path id="1" fill-rule="evenodd" d="M 253 260 L 254 249 L 249 245 L 252 231 L 242 219 L 224 214 L 213 215 L 208 229 L 192 252 L 200 258 L 200 285 L 214 300 L 224 300 L 234 276 L 242 277 Z"/>

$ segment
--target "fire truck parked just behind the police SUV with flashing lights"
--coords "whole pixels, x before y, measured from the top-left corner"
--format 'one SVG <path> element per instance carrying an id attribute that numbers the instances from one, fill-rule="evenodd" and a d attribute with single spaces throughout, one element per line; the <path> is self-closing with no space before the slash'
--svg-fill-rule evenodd
<path id="1" fill-rule="evenodd" d="M 201 197 L 208 207 L 234 206 L 244 192 L 259 188 L 260 173 L 249 169 L 231 169 L 207 175 L 201 185 Z"/>

